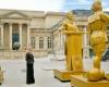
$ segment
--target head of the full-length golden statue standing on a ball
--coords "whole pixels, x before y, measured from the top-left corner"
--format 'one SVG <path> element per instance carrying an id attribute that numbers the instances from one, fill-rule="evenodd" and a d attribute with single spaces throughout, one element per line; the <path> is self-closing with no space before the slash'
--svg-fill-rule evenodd
<path id="1" fill-rule="evenodd" d="M 93 3 L 92 10 L 94 12 L 101 11 L 102 10 L 101 0 L 95 0 Z"/>

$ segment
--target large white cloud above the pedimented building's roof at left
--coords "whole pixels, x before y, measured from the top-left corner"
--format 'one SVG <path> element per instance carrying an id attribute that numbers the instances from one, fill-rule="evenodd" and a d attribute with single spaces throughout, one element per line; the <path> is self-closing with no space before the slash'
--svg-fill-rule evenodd
<path id="1" fill-rule="evenodd" d="M 0 9 L 60 11 L 65 0 L 0 0 Z"/>

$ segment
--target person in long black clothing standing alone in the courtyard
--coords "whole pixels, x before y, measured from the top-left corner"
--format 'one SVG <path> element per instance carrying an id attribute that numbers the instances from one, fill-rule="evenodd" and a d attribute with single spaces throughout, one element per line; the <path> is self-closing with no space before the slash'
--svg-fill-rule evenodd
<path id="1" fill-rule="evenodd" d="M 31 49 L 26 49 L 26 84 L 35 84 L 34 78 L 34 55 Z"/>

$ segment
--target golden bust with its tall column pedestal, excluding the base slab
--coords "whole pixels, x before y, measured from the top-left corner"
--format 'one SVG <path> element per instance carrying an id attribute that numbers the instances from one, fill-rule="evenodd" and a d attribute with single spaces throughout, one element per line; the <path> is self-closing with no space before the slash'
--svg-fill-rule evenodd
<path id="1" fill-rule="evenodd" d="M 74 15 L 72 12 L 66 13 L 66 20 L 63 23 L 62 32 L 65 35 L 65 59 L 66 70 L 83 71 L 82 62 L 82 36 L 80 38 L 80 30 L 74 23 Z"/>

